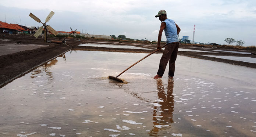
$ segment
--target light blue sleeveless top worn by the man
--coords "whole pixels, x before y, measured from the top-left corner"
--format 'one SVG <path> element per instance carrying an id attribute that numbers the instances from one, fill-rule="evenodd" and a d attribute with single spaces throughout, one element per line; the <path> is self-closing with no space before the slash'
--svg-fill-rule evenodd
<path id="1" fill-rule="evenodd" d="M 166 44 L 172 42 L 178 42 L 177 28 L 175 22 L 171 19 L 166 19 L 163 22 L 166 23 L 166 27 L 164 28 L 164 34 L 166 35 Z"/>

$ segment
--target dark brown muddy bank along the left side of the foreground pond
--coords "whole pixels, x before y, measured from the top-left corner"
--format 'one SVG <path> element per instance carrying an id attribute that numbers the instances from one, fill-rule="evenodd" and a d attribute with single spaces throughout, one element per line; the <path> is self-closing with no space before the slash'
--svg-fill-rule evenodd
<path id="1" fill-rule="evenodd" d="M 0 86 L 24 75 L 36 66 L 71 49 L 71 46 L 50 44 L 47 47 L 25 50 L 0 56 Z"/>

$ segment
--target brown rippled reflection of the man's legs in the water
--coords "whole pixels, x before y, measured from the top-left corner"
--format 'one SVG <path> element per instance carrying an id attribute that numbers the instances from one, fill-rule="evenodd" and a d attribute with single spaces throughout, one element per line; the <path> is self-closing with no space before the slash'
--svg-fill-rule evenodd
<path id="1" fill-rule="evenodd" d="M 150 131 L 150 136 L 157 135 L 160 129 L 170 128 L 170 123 L 173 123 L 173 109 L 174 109 L 174 97 L 173 97 L 173 79 L 168 79 L 167 93 L 164 90 L 163 82 L 161 79 L 157 79 L 157 95 L 159 100 L 160 108 L 154 106 L 153 111 L 153 124 L 154 127 Z M 169 127 L 158 128 L 159 125 L 169 125 Z"/>

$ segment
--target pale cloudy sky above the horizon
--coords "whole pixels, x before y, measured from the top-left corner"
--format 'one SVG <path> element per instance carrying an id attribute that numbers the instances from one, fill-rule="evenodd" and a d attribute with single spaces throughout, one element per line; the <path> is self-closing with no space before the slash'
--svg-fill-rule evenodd
<path id="1" fill-rule="evenodd" d="M 161 22 L 155 18 L 166 10 L 167 18 L 181 28 L 179 38 L 195 42 L 227 44 L 225 38 L 243 40 L 256 46 L 255 0 L 0 0 L 0 21 L 26 26 L 42 26 L 30 12 L 57 31 L 94 35 L 125 35 L 131 39 L 157 40 Z M 164 32 L 162 40 L 166 40 Z M 235 45 L 236 43 L 232 43 Z"/>

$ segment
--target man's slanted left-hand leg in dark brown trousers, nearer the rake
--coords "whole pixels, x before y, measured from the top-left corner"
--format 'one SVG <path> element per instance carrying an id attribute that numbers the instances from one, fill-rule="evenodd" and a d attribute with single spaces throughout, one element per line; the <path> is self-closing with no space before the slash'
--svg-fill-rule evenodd
<path id="1" fill-rule="evenodd" d="M 157 75 L 159 76 L 163 76 L 164 75 L 164 71 L 166 69 L 166 65 L 173 53 L 173 50 L 175 48 L 175 44 L 174 43 L 169 43 L 165 48 L 164 48 L 164 53 L 161 57 L 160 63 L 159 63 L 159 69 L 157 71 Z"/>

